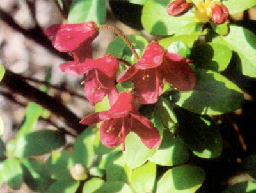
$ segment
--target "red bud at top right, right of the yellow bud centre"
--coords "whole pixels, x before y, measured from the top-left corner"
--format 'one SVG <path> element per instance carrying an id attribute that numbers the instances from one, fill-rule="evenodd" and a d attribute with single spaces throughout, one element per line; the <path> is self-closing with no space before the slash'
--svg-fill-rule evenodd
<path id="1" fill-rule="evenodd" d="M 212 22 L 214 24 L 223 24 L 229 16 L 228 8 L 223 4 L 214 3 L 212 8 Z"/>

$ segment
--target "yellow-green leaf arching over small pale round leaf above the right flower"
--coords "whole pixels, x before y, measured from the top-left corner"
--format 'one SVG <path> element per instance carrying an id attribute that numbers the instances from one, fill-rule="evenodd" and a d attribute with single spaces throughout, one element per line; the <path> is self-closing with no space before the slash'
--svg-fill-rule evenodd
<path id="1" fill-rule="evenodd" d="M 194 42 L 198 39 L 197 34 L 192 34 L 192 35 L 175 35 L 175 36 L 170 36 L 168 38 L 163 38 L 159 40 L 159 45 L 163 46 L 165 49 L 168 49 L 168 46 L 177 41 L 184 42 L 188 45 L 188 47 L 193 47 Z"/>

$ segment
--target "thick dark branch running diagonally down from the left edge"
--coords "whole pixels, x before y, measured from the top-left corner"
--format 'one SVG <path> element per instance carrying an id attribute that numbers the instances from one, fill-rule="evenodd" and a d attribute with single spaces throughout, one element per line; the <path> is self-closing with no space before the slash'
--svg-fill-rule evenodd
<path id="1" fill-rule="evenodd" d="M 4 84 L 4 86 L 13 93 L 22 95 L 28 100 L 36 102 L 37 104 L 42 105 L 42 107 L 45 109 L 48 109 L 57 116 L 60 116 L 64 119 L 68 127 L 75 130 L 77 134 L 80 134 L 85 128 L 87 128 L 87 125 L 79 124 L 81 118 L 78 118 L 76 114 L 65 107 L 60 100 L 52 98 L 51 96 L 47 95 L 47 93 L 44 93 L 29 85 L 22 78 L 20 78 L 19 75 L 11 72 L 10 70 L 6 70 L 1 84 Z"/>

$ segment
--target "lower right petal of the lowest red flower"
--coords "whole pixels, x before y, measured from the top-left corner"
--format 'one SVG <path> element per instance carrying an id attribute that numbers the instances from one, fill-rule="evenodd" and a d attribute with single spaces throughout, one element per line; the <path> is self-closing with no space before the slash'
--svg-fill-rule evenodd
<path id="1" fill-rule="evenodd" d="M 161 144 L 161 137 L 153 123 L 139 114 L 131 113 L 131 130 L 136 133 L 147 148 L 154 149 Z"/>

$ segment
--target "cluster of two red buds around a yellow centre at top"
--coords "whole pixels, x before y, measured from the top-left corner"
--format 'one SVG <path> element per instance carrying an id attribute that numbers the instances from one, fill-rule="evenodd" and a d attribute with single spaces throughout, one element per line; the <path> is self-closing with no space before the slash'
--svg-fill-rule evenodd
<path id="1" fill-rule="evenodd" d="M 223 24 L 229 16 L 227 7 L 218 0 L 198 0 L 196 5 L 191 0 L 175 0 L 168 4 L 167 13 L 173 16 L 182 15 L 193 6 L 195 17 L 202 23 L 211 20 L 214 24 Z"/>

